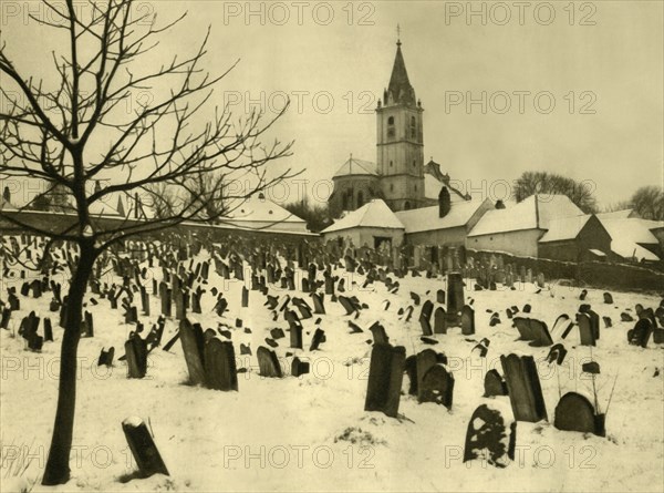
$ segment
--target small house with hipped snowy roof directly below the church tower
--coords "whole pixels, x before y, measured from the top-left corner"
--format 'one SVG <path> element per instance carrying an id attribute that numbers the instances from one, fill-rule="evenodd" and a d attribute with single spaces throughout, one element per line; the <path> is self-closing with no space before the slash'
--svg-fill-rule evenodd
<path id="1" fill-rule="evenodd" d="M 404 225 L 384 201 L 375 198 L 346 214 L 321 232 L 325 242 L 350 239 L 356 247 L 378 248 L 384 244 L 400 246 L 404 242 Z"/>

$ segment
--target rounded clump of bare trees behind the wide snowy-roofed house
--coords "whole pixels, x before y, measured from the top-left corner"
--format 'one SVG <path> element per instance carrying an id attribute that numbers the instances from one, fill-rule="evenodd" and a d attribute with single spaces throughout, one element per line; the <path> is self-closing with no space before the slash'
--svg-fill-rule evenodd
<path id="1" fill-rule="evenodd" d="M 535 194 L 566 195 L 585 214 L 598 210 L 593 187 L 567 176 L 548 172 L 525 172 L 515 184 L 515 198 L 521 202 Z"/>

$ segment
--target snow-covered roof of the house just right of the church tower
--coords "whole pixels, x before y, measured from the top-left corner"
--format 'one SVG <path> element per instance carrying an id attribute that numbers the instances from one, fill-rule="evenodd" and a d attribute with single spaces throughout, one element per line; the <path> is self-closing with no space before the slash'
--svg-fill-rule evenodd
<path id="1" fill-rule="evenodd" d="M 438 206 L 422 207 L 411 210 L 400 210 L 396 217 L 406 227 L 406 233 L 430 232 L 446 229 L 468 224 L 473 215 L 484 205 L 489 206 L 491 201 L 453 201 L 452 208 L 445 217 L 438 216 Z"/>

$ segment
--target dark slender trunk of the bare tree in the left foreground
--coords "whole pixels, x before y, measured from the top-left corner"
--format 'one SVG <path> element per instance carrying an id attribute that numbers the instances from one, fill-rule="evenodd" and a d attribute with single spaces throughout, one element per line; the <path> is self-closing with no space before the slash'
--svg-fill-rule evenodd
<path id="1" fill-rule="evenodd" d="M 71 278 L 66 321 L 60 350 L 60 387 L 58 390 L 58 410 L 49 460 L 42 480 L 43 485 L 64 484 L 70 480 L 70 454 L 76 408 L 76 355 L 81 339 L 81 319 L 83 296 L 96 257 L 92 243 L 80 243 L 81 258 L 75 274 Z"/>

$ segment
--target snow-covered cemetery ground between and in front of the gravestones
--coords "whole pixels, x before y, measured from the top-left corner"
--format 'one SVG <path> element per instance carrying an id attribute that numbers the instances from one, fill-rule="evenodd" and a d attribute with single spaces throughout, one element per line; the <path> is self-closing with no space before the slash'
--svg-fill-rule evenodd
<path id="1" fill-rule="evenodd" d="M 203 254 L 205 256 L 205 254 Z M 203 258 L 203 257 L 201 257 Z M 160 269 L 153 269 L 157 275 Z M 211 269 L 214 270 L 214 269 Z M 346 275 L 338 271 L 339 275 Z M 350 279 L 349 279 L 350 280 Z M 572 319 L 579 307 L 579 288 L 547 286 L 537 294 L 533 285 L 516 285 L 516 290 L 474 291 L 466 280 L 466 299 L 474 299 L 476 335 L 490 339 L 485 359 L 471 355 L 475 342 L 466 340 L 459 328 L 434 336 L 434 349 L 448 357 L 454 372 L 454 405 L 450 411 L 433 403 L 418 404 L 404 391 L 400 419 L 380 412 L 365 412 L 364 399 L 369 374 L 371 332 L 375 320 L 386 328 L 391 342 L 403 345 L 407 355 L 427 347 L 419 340 L 417 321 L 421 307 L 411 321 L 397 311 L 412 304 L 409 291 L 435 301 L 436 289 L 445 289 L 445 280 L 401 279 L 398 294 L 391 295 L 381 283 L 362 289 L 364 277 L 354 275 L 351 295 L 356 295 L 370 309 L 354 320 L 365 330 L 350 333 L 342 306 L 325 299 L 328 315 L 320 327 L 326 342 L 321 350 L 309 352 L 318 316 L 303 320 L 305 350 L 289 349 L 288 332 L 280 339 L 277 353 L 309 358 L 311 373 L 301 378 L 266 379 L 258 376 L 256 350 L 264 345 L 269 329 L 288 328 L 281 318 L 272 321 L 263 307 L 264 297 L 250 292 L 250 307 L 240 308 L 240 281 L 224 281 L 210 273 L 208 287 L 217 286 L 229 299 L 224 318 L 212 312 L 214 299 L 203 299 L 203 316 L 190 315 L 204 329 L 225 322 L 232 327 L 232 341 L 239 367 L 239 392 L 220 392 L 186 383 L 187 367 L 178 341 L 165 352 L 155 349 L 148 357 L 147 377 L 128 380 L 126 366 L 117 358 L 124 353 L 124 341 L 133 326 L 124 323 L 121 310 L 110 302 L 87 304 L 94 315 L 95 337 L 82 339 L 77 387 L 72 480 L 59 487 L 39 484 L 45 465 L 53 428 L 58 394 L 58 364 L 62 329 L 58 314 L 49 312 L 50 294 L 34 300 L 21 297 L 21 311 L 12 315 L 11 330 L 0 330 L 1 376 L 1 446 L 3 468 L 1 487 L 6 491 L 663 491 L 664 490 L 664 361 L 663 347 L 646 349 L 629 346 L 626 331 L 634 322 L 622 322 L 620 314 L 640 302 L 656 308 L 660 298 L 641 294 L 613 292 L 614 304 L 605 305 L 602 291 L 589 289 L 585 302 L 602 316 L 610 316 L 612 328 L 601 322 L 601 339 L 592 349 L 592 358 L 601 366 L 598 378 L 601 411 L 618 377 L 606 417 L 606 438 L 553 428 L 553 411 L 559 391 L 578 391 L 592 401 L 590 376 L 581 372 L 581 363 L 590 360 L 589 347 L 579 346 L 578 329 L 563 341 L 569 350 L 566 363 L 556 369 L 543 360 L 549 348 L 531 348 L 516 340 L 505 309 L 525 304 L 532 306 L 532 317 L 552 327 L 560 314 Z M 3 299 L 8 285 L 4 279 Z M 149 280 L 147 281 L 148 286 Z M 298 283 L 299 284 L 299 283 Z M 346 281 L 346 286 L 349 281 Z M 65 287 L 63 287 L 63 292 Z M 148 287 L 152 292 L 152 288 Z M 271 295 L 288 291 L 271 286 Z M 427 295 L 428 292 L 428 295 Z M 301 292 L 291 296 L 305 297 Z M 86 299 L 90 299 L 90 292 Z M 387 310 L 383 300 L 390 300 Z M 151 296 L 149 330 L 159 312 L 159 300 Z M 312 305 L 312 304 L 311 304 Z M 45 342 L 41 353 L 24 349 L 15 335 L 20 319 L 30 310 L 51 317 L 55 342 Z M 499 311 L 501 323 L 489 327 L 488 310 Z M 236 317 L 251 333 L 235 328 Z M 177 323 L 168 319 L 165 343 Z M 40 326 L 40 332 L 41 332 Z M 553 335 L 558 341 L 560 335 Z M 240 342 L 251 345 L 253 356 L 240 356 Z M 115 347 L 112 369 L 96 366 L 103 347 Z M 519 351 L 533 355 L 547 403 L 549 422 L 517 425 L 517 456 L 505 469 L 481 461 L 463 463 L 468 420 L 484 402 L 504 409 L 511 418 L 508 397 L 484 398 L 484 377 L 497 368 L 500 355 Z M 290 358 L 288 358 L 290 362 Z M 287 372 L 290 373 L 290 371 Z M 559 388 L 560 386 L 560 388 Z M 122 421 L 132 415 L 149 420 L 155 442 L 170 476 L 129 479 L 136 465 L 131 456 Z M 29 455 L 29 456 L 27 456 Z M 24 473 L 14 474 L 20 462 Z"/>

